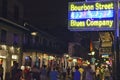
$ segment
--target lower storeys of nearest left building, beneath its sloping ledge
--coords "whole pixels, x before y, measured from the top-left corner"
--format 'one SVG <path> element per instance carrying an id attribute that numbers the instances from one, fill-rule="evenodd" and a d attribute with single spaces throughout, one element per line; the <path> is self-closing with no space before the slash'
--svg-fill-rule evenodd
<path id="1" fill-rule="evenodd" d="M 0 64 L 4 67 L 4 74 L 10 72 L 13 61 L 21 65 L 22 41 L 26 31 L 28 29 L 14 22 L 0 19 Z"/>

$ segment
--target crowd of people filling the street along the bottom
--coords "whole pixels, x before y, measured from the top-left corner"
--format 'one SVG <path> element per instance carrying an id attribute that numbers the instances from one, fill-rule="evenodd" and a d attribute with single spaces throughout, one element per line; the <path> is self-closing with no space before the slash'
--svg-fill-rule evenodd
<path id="1" fill-rule="evenodd" d="M 2 66 L 2 65 L 1 65 Z M 20 69 L 17 62 L 11 67 L 10 80 L 112 80 L 112 69 L 108 66 L 76 65 L 73 67 L 60 67 L 43 65 L 41 68 L 34 65 Z M 3 68 L 0 68 L 0 80 L 3 80 Z"/>

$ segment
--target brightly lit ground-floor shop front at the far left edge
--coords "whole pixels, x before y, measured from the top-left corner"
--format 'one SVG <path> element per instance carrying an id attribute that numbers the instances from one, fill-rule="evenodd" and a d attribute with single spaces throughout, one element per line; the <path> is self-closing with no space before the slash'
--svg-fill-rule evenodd
<path id="1" fill-rule="evenodd" d="M 21 63 L 20 48 L 8 45 L 0 45 L 0 64 L 2 64 L 2 67 L 4 68 L 3 79 L 10 78 L 10 70 L 11 66 L 13 65 L 13 61 Z"/>

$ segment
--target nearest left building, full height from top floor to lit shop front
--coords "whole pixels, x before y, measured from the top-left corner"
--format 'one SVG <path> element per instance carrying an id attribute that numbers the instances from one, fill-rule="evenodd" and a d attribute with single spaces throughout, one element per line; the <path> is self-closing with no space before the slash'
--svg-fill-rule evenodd
<path id="1" fill-rule="evenodd" d="M 0 0 L 0 64 L 4 67 L 4 79 L 6 78 L 6 80 L 12 62 L 21 63 L 23 35 L 21 31 L 25 30 L 21 26 L 23 11 L 23 5 L 18 0 Z"/>

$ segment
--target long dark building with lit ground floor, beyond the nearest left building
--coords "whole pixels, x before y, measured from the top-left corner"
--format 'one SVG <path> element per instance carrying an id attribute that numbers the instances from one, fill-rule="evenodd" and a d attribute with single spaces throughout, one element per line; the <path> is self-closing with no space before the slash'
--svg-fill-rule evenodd
<path id="1" fill-rule="evenodd" d="M 29 29 L 30 27 L 29 25 Z M 36 35 L 26 35 L 26 41 L 23 44 L 23 66 L 42 67 L 42 65 L 49 66 L 49 63 L 53 65 L 53 59 L 66 53 L 67 45 L 64 42 L 34 27 L 30 30 L 36 32 Z"/>

